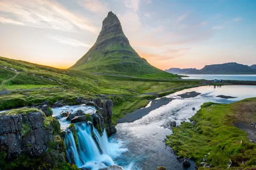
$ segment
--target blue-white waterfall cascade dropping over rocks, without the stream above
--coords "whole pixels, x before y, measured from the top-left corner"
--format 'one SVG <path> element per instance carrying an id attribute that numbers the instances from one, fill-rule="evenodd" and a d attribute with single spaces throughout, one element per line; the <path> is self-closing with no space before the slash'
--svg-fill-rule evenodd
<path id="1" fill-rule="evenodd" d="M 106 168 L 114 165 L 114 161 L 109 153 L 109 142 L 106 131 L 99 134 L 90 122 L 76 124 L 77 144 L 71 130 L 66 130 L 64 142 L 66 145 L 66 155 L 69 162 L 75 163 L 78 168 L 88 168 L 92 170 Z M 93 134 L 92 134 L 93 132 Z M 94 140 L 93 135 L 96 140 Z"/>

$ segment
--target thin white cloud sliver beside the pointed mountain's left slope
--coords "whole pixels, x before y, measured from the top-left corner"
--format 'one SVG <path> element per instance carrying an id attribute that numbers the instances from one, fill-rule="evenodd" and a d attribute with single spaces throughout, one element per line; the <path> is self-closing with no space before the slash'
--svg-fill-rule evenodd
<path id="1" fill-rule="evenodd" d="M 70 39 L 70 38 L 64 37 L 64 36 L 48 35 L 47 37 L 56 42 L 63 43 L 65 45 L 70 45 L 73 47 L 90 47 L 90 45 L 88 45 L 86 43 L 83 43 L 83 42 L 75 40 L 75 39 Z"/>

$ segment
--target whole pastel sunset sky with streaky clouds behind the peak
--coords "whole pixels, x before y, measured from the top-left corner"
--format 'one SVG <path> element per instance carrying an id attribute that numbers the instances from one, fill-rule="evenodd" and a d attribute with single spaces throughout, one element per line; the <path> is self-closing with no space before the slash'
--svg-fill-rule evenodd
<path id="1" fill-rule="evenodd" d="M 0 56 L 69 68 L 95 43 L 108 11 L 162 70 L 256 64 L 254 0 L 0 0 Z"/>

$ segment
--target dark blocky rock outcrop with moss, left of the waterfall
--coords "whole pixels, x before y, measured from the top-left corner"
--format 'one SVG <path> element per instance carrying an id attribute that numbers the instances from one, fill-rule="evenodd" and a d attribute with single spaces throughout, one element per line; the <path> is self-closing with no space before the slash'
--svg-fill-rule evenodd
<path id="1" fill-rule="evenodd" d="M 42 112 L 0 115 L 0 151 L 13 159 L 21 153 L 40 156 L 46 152 L 48 141 L 52 140 L 51 125 L 44 125 Z"/>

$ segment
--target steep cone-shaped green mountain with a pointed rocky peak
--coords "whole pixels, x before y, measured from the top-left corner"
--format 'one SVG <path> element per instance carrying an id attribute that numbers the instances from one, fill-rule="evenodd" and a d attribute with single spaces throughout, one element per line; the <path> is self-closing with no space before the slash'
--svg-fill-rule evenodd
<path id="1" fill-rule="evenodd" d="M 92 48 L 69 69 L 124 75 L 166 74 L 136 53 L 113 12 L 108 12 L 103 20 L 101 32 Z"/>

